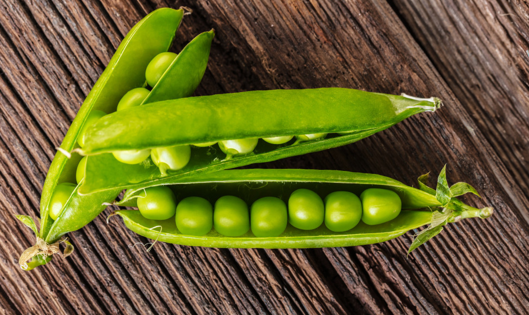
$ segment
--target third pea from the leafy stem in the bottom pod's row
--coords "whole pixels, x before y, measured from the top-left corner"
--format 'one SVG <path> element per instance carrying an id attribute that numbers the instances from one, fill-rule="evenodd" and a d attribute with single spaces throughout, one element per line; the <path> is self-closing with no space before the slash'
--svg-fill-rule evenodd
<path id="1" fill-rule="evenodd" d="M 288 198 L 288 221 L 302 230 L 313 230 L 322 225 L 325 215 L 323 200 L 312 190 L 300 188 Z"/>

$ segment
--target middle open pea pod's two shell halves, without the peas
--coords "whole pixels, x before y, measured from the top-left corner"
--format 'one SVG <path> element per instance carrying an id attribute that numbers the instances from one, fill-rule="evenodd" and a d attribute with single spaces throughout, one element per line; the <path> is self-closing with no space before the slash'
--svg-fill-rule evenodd
<path id="1" fill-rule="evenodd" d="M 275 161 L 346 145 L 440 106 L 436 98 L 345 88 L 249 91 L 166 100 L 108 115 L 87 132 L 79 152 L 90 156 L 79 193 L 170 183 L 199 173 Z M 124 164 L 110 152 L 153 147 L 316 133 L 313 141 L 274 145 L 259 141 L 246 155 L 226 157 L 215 147 L 193 147 L 189 163 L 162 175 L 151 160 Z"/>

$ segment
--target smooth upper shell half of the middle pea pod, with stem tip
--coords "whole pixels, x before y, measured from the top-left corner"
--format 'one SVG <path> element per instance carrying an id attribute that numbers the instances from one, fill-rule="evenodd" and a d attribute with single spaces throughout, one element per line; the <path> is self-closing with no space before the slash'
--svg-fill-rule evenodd
<path id="1" fill-rule="evenodd" d="M 87 131 L 84 155 L 392 125 L 432 101 L 345 88 L 248 91 L 166 100 L 116 112 Z"/>

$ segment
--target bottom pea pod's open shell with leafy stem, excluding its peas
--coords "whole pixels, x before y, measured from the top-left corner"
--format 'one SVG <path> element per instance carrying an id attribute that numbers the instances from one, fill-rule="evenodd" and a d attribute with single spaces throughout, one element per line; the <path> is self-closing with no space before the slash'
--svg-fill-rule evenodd
<path id="1" fill-rule="evenodd" d="M 441 178 L 441 177 L 440 177 Z M 434 194 L 425 192 L 396 180 L 375 174 L 351 173 L 345 171 L 322 170 L 225 170 L 202 174 L 187 181 L 169 183 L 177 194 L 177 199 L 197 196 L 210 202 L 222 196 L 234 195 L 249 205 L 261 197 L 278 197 L 287 200 L 290 194 L 299 188 L 315 191 L 321 197 L 333 191 L 350 191 L 357 195 L 368 188 L 383 188 L 396 192 L 402 200 L 402 208 L 397 218 L 379 225 L 366 225 L 360 222 L 345 232 L 333 232 L 324 225 L 313 230 L 300 230 L 288 225 L 278 237 L 256 237 L 251 231 L 240 237 L 226 237 L 212 230 L 205 236 L 196 237 L 181 234 L 176 228 L 175 218 L 156 221 L 145 219 L 139 211 L 120 210 L 116 214 L 123 218 L 127 228 L 139 235 L 160 242 L 190 246 L 226 247 L 226 248 L 308 248 L 356 246 L 380 243 L 405 234 L 409 230 L 432 224 L 423 230 L 412 244 L 413 248 L 423 244 L 427 236 L 439 233 L 442 226 L 462 218 L 486 218 L 492 214 L 492 208 L 477 209 L 463 205 L 464 210 L 454 210 L 450 204 L 443 205 Z M 130 191 L 127 197 L 118 202 L 121 206 L 134 206 L 134 197 L 141 196 L 142 190 Z M 444 207 L 443 210 L 436 210 Z M 411 248 L 411 249 L 413 249 Z"/>

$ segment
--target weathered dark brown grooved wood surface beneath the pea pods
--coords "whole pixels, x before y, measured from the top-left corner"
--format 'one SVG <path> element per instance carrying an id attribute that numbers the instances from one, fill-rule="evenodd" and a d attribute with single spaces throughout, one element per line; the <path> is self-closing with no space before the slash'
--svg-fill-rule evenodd
<path id="1" fill-rule="evenodd" d="M 0 0 L 1 313 L 529 312 L 529 7 L 455 1 Z M 135 22 L 189 6 L 175 50 L 214 27 L 197 95 L 354 87 L 445 106 L 359 143 L 259 165 L 371 172 L 415 184 L 448 163 L 496 209 L 446 228 L 326 249 L 212 249 L 146 239 L 98 217 L 74 255 L 23 272 L 45 174 L 84 97 Z M 108 214 L 107 210 L 105 214 Z"/>

